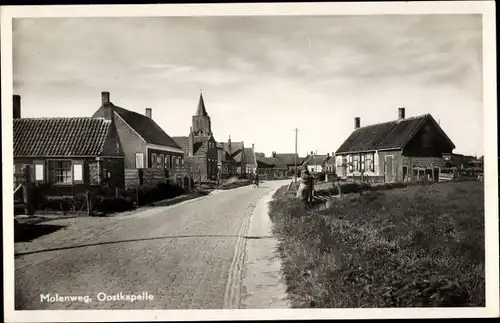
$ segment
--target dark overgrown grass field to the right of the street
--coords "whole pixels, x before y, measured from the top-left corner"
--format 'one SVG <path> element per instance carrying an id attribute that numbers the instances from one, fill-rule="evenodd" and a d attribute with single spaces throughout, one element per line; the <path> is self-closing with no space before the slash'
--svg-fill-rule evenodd
<path id="1" fill-rule="evenodd" d="M 485 306 L 484 189 L 449 182 L 371 191 L 307 210 L 271 202 L 293 307 Z"/>

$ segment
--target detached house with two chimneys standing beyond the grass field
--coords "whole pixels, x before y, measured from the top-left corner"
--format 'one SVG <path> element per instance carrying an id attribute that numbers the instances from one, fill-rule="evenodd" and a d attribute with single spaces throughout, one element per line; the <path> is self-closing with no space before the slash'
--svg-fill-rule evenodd
<path id="1" fill-rule="evenodd" d="M 393 182 L 411 178 L 439 179 L 443 156 L 455 145 L 430 114 L 405 118 L 399 108 L 398 119 L 360 127 L 354 119 L 354 131 L 335 153 L 337 175 Z"/>

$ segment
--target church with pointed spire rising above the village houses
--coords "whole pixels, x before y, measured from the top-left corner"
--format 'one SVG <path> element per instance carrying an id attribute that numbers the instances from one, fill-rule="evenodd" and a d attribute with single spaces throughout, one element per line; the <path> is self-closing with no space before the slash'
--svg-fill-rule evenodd
<path id="1" fill-rule="evenodd" d="M 214 180 L 217 178 L 218 149 L 213 136 L 212 123 L 200 93 L 198 107 L 192 117 L 189 136 L 173 137 L 185 154 L 186 167 L 195 180 Z"/>

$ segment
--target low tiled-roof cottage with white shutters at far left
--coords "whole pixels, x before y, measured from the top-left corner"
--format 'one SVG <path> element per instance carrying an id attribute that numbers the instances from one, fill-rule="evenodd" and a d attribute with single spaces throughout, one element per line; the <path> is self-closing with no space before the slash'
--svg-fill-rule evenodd
<path id="1" fill-rule="evenodd" d="M 44 195 L 124 187 L 124 152 L 114 118 L 21 118 L 14 96 L 14 171 L 30 167 Z"/>

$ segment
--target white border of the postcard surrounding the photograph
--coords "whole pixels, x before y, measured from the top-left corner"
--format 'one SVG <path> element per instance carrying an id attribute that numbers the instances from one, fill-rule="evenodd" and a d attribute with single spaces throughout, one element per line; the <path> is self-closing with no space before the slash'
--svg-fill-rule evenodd
<path id="1" fill-rule="evenodd" d="M 4 313 L 6 322 L 186 321 L 499 316 L 496 31 L 493 1 L 7 6 L 1 8 L 3 174 L 12 172 L 12 19 L 20 17 L 153 17 L 225 15 L 482 14 L 485 158 L 486 307 L 286 310 L 14 310 L 12 180 L 3 176 Z"/>

